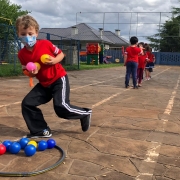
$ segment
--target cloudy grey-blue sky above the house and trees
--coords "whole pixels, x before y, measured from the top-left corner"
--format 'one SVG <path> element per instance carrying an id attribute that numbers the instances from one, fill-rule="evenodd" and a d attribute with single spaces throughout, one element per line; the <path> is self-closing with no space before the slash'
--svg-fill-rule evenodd
<path id="1" fill-rule="evenodd" d="M 157 33 L 180 0 L 10 0 L 31 11 L 40 28 L 67 28 L 79 23 L 105 31 L 121 31 L 128 39 Z"/>

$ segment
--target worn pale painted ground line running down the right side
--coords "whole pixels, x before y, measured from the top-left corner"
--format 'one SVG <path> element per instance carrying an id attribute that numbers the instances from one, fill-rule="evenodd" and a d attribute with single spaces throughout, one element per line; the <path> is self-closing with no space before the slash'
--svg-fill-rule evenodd
<path id="1" fill-rule="evenodd" d="M 179 82 L 180 82 L 180 76 L 178 77 L 177 83 L 171 94 L 169 102 L 164 110 L 164 115 L 170 115 L 170 113 L 172 111 L 173 104 L 174 104 L 174 98 L 176 96 L 177 89 L 179 87 Z M 168 119 L 162 119 L 161 121 L 162 121 L 162 128 L 156 129 L 155 130 L 156 132 L 157 131 L 165 132 Z M 146 180 L 148 177 L 150 178 L 153 176 L 154 169 L 155 169 L 156 163 L 157 163 L 157 159 L 159 157 L 159 152 L 160 152 L 163 138 L 164 138 L 164 136 L 162 136 L 158 142 L 151 141 L 150 148 L 145 156 L 146 159 L 144 159 L 143 162 L 141 163 L 141 166 L 139 168 L 140 172 L 139 172 L 138 176 L 136 176 L 136 180 Z"/>

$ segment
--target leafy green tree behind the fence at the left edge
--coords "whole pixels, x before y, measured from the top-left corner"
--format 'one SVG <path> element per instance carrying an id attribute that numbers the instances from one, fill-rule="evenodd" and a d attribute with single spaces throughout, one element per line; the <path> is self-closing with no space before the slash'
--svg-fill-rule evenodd
<path id="1" fill-rule="evenodd" d="M 30 13 L 21 8 L 20 5 L 12 4 L 9 0 L 0 0 L 0 61 L 5 58 L 12 45 L 17 45 L 14 27 L 17 17 Z"/>

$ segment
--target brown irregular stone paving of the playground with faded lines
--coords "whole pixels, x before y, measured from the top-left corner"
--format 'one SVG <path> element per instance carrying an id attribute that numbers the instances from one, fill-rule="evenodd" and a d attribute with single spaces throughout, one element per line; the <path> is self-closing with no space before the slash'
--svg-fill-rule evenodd
<path id="1" fill-rule="evenodd" d="M 56 116 L 52 102 L 40 106 L 64 162 L 30 180 L 179 180 L 180 67 L 156 66 L 139 89 L 125 89 L 125 67 L 68 72 L 71 104 L 93 109 L 91 128 Z M 21 101 L 31 89 L 27 77 L 0 79 L 0 141 L 28 132 Z M 35 83 L 37 81 L 35 80 Z M 60 158 L 56 149 L 25 157 L 0 156 L 1 172 L 31 172 Z M 3 180 L 25 179 L 0 177 Z"/>

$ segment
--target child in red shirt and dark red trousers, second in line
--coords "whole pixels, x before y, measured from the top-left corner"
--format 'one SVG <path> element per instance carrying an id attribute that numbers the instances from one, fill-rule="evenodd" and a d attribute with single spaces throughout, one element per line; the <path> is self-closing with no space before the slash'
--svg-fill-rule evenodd
<path id="1" fill-rule="evenodd" d="M 143 72 L 144 72 L 144 68 L 146 65 L 146 61 L 148 59 L 148 56 L 146 54 L 146 51 L 144 49 L 144 43 L 141 42 L 138 44 L 138 47 L 140 47 L 141 49 L 143 49 L 142 53 L 139 54 L 138 57 L 138 69 L 137 69 L 137 85 L 138 87 L 141 87 L 141 83 L 142 83 L 142 78 L 143 78 Z"/>

